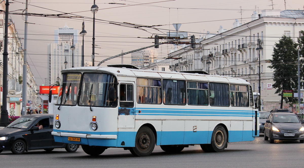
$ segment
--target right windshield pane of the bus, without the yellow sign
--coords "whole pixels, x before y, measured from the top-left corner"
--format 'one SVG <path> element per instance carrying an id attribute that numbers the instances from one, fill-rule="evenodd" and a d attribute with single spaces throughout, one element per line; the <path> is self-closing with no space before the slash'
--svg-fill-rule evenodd
<path id="1" fill-rule="evenodd" d="M 84 73 L 79 106 L 116 107 L 117 82 L 113 75 Z"/>

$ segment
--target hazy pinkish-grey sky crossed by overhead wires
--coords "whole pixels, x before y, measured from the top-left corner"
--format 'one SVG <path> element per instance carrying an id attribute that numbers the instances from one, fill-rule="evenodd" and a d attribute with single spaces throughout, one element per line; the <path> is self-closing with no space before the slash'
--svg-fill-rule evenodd
<path id="1" fill-rule="evenodd" d="M 92 1 L 92 2 L 91 2 Z M 38 86 L 44 83 L 47 75 L 47 44 L 54 42 L 54 30 L 59 27 L 72 27 L 81 32 L 83 20 L 85 30 L 85 59 L 91 59 L 92 55 L 92 29 L 93 14 L 90 11 L 93 0 L 30 0 L 28 12 L 35 14 L 64 14 L 73 18 L 57 18 L 44 16 L 29 16 L 28 22 L 28 63 L 34 73 Z M 9 0 L 9 11 L 25 9 L 25 0 Z M 153 3 L 155 2 L 155 3 Z M 303 10 L 303 0 L 285 0 L 286 9 Z M 117 3 L 117 4 L 109 4 Z M 124 4 L 124 5 L 120 5 Z M 273 0 L 273 8 L 284 10 L 284 0 Z M 181 23 L 180 31 L 191 32 L 196 38 L 207 31 L 217 33 L 219 26 L 224 29 L 232 29 L 234 19 L 243 23 L 251 21 L 253 11 L 261 13 L 261 10 L 272 9 L 268 0 L 96 0 L 99 11 L 95 14 L 95 60 L 102 61 L 108 57 L 122 52 L 139 49 L 153 45 L 154 39 L 147 39 L 153 34 L 164 35 L 169 30 L 174 30 L 173 23 Z M 242 16 L 240 9 L 242 8 Z M 18 10 L 12 13 L 22 13 Z M 13 15 L 10 17 L 15 22 L 19 36 L 24 37 L 24 16 Z M 116 23 L 120 25 L 110 24 Z M 123 22 L 152 26 L 154 28 L 134 28 L 136 26 L 122 26 Z M 137 38 L 140 37 L 140 38 Z M 82 38 L 79 37 L 79 42 Z M 22 42 L 24 43 L 24 42 Z M 163 44 L 158 49 L 160 57 L 166 57 L 173 45 Z M 153 48 L 154 49 L 154 48 Z M 120 63 L 121 58 L 112 59 L 102 64 Z M 124 63 L 131 62 L 131 54 L 124 56 Z M 95 62 L 97 65 L 98 62 Z"/>

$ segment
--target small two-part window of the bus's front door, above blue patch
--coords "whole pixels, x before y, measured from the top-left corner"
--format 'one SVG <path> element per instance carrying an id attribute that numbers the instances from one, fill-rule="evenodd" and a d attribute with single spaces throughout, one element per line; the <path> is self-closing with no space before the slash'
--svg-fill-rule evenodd
<path id="1" fill-rule="evenodd" d="M 119 106 L 127 108 L 132 108 L 134 106 L 132 84 L 120 84 Z"/>

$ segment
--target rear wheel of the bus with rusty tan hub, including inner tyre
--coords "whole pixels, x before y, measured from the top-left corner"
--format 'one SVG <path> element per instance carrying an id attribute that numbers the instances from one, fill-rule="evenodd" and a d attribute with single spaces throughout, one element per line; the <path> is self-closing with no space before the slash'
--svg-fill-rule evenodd
<path id="1" fill-rule="evenodd" d="M 212 132 L 211 144 L 201 144 L 204 152 L 223 152 L 227 146 L 227 133 L 223 126 L 218 125 Z"/>

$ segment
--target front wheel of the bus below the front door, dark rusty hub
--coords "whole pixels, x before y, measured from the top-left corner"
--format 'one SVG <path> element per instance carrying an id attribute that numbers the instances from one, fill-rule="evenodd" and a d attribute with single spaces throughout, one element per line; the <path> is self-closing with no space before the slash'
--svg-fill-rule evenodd
<path id="1" fill-rule="evenodd" d="M 135 137 L 135 147 L 130 148 L 130 152 L 134 156 L 149 156 L 155 147 L 155 135 L 153 131 L 142 126 L 138 129 Z"/>

